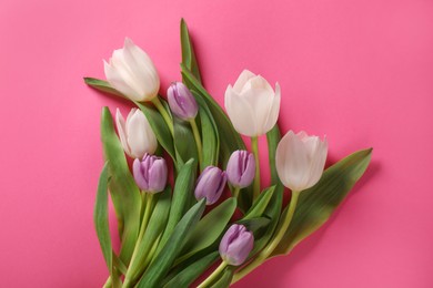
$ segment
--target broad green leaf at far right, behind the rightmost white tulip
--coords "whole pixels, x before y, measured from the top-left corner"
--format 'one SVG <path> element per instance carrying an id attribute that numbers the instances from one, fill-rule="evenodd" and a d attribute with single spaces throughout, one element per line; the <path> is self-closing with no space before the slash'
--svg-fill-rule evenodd
<path id="1" fill-rule="evenodd" d="M 300 194 L 288 232 L 271 257 L 288 254 L 319 229 L 364 174 L 372 150 L 362 150 L 329 167 L 316 185 Z"/>

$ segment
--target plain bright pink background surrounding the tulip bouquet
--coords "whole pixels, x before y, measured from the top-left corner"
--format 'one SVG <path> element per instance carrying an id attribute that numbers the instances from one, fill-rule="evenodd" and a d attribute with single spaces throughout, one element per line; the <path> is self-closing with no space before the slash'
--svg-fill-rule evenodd
<path id="1" fill-rule="evenodd" d="M 108 99 L 83 84 L 125 35 L 162 91 L 179 80 L 179 21 L 209 91 L 242 69 L 282 88 L 284 131 L 326 134 L 331 162 L 373 161 L 329 224 L 235 287 L 433 287 L 433 2 L 0 2 L 2 287 L 100 287 L 92 223 Z"/>

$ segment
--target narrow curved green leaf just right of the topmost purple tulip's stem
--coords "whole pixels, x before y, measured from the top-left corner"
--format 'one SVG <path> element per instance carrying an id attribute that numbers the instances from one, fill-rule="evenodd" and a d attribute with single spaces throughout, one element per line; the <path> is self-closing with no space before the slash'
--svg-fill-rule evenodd
<path id="1" fill-rule="evenodd" d="M 201 136 L 203 145 L 202 168 L 208 166 L 218 166 L 218 157 L 220 152 L 220 136 L 216 123 L 205 101 L 195 92 L 191 91 L 200 105 L 199 115 L 201 124 Z"/>

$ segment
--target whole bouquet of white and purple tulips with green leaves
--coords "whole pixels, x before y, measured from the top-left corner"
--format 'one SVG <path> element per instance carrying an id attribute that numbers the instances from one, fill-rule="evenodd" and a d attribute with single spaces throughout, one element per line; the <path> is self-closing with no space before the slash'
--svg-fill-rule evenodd
<path id="1" fill-rule="evenodd" d="M 321 227 L 370 162 L 371 148 L 324 169 L 325 138 L 292 131 L 281 137 L 280 85 L 248 70 L 225 91 L 226 116 L 202 84 L 183 20 L 181 47 L 182 82 L 173 82 L 167 97 L 151 59 L 129 39 L 104 62 L 107 81 L 84 79 L 135 106 L 127 120 L 119 110 L 115 121 L 102 110 L 105 165 L 94 224 L 109 269 L 105 287 L 228 287 Z M 251 152 L 241 135 L 251 138 Z M 268 138 L 268 187 L 261 185 L 261 136 Z"/>

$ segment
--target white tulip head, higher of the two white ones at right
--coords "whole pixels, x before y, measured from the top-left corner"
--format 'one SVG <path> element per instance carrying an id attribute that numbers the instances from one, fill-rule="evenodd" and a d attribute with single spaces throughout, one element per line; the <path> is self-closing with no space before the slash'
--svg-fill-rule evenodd
<path id="1" fill-rule="evenodd" d="M 280 112 L 280 85 L 275 91 L 261 75 L 244 70 L 234 85 L 225 90 L 225 110 L 234 128 L 246 136 L 265 134 Z"/>

